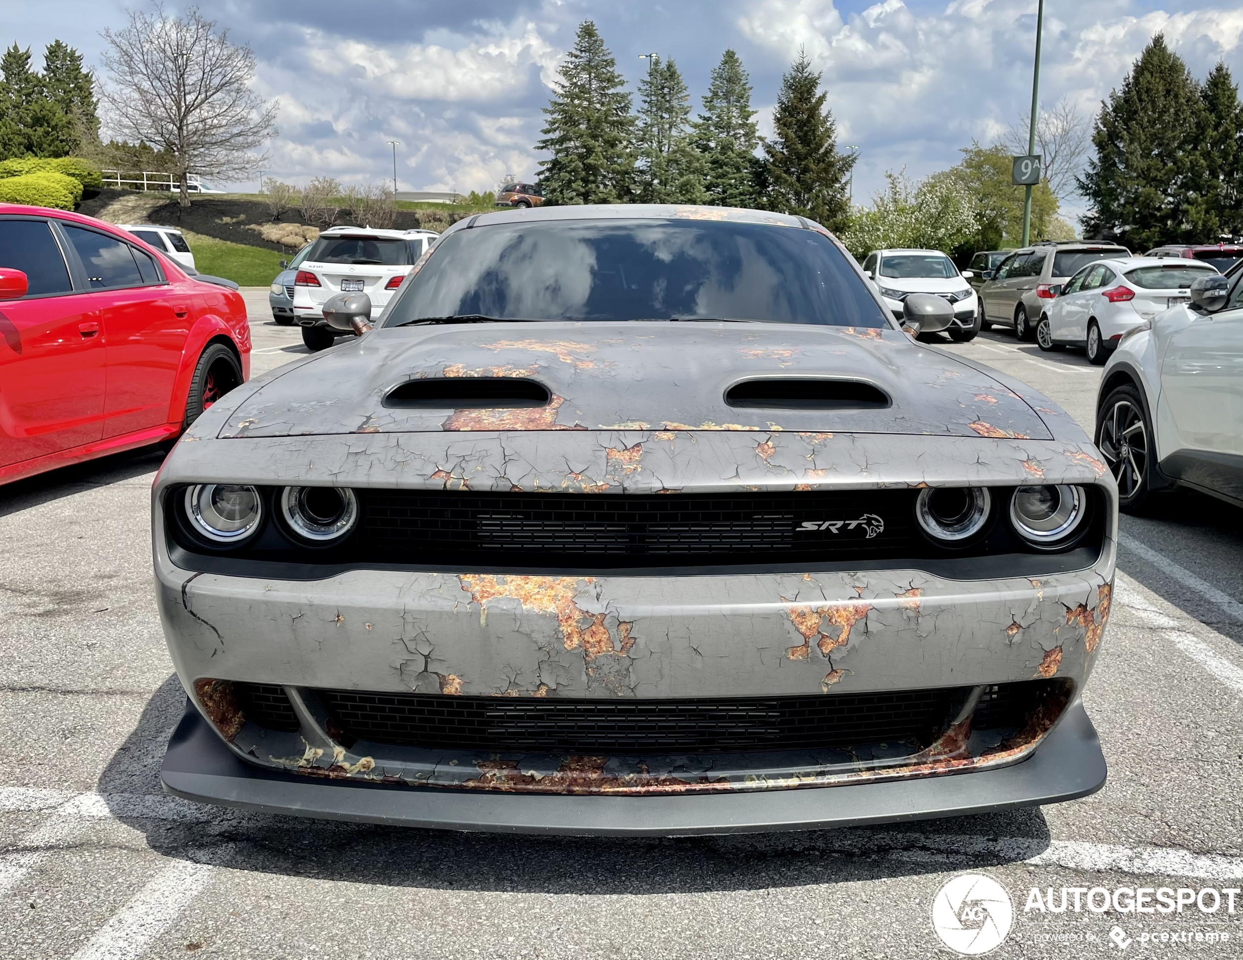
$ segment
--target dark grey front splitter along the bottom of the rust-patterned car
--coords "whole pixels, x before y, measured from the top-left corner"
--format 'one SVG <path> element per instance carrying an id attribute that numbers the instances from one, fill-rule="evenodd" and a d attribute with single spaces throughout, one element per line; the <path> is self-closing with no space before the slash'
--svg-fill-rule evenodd
<path id="1" fill-rule="evenodd" d="M 434 829 L 686 836 L 822 829 L 1059 803 L 1105 785 L 1096 730 L 1076 700 L 1030 757 L 997 770 L 880 783 L 697 796 L 558 796 L 346 783 L 265 770 L 229 750 L 186 701 L 164 788 L 200 803 Z"/>

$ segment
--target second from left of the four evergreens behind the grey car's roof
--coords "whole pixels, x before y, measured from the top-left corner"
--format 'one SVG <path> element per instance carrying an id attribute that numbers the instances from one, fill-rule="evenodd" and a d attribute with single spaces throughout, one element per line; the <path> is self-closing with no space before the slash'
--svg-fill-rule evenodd
<path id="1" fill-rule="evenodd" d="M 704 157 L 691 143 L 690 95 L 676 62 L 651 63 L 639 83 L 639 200 L 705 203 Z"/>

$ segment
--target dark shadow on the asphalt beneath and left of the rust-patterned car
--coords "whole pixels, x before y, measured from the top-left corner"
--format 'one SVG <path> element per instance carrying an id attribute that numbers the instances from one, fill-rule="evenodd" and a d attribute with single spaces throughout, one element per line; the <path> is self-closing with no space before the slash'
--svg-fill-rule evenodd
<path id="1" fill-rule="evenodd" d="M 1050 839 L 1039 808 L 858 829 L 675 838 L 461 833 L 185 801 L 175 802 L 183 811 L 175 817 L 135 816 L 144 796 L 162 792 L 159 767 L 184 704 L 181 684 L 169 676 L 108 762 L 98 790 L 117 819 L 143 833 L 155 852 L 232 870 L 440 890 L 670 894 L 993 867 L 1034 856 Z M 998 838 L 1019 838 L 1022 854 L 998 853 Z M 981 849 L 971 852 L 973 842 Z"/>

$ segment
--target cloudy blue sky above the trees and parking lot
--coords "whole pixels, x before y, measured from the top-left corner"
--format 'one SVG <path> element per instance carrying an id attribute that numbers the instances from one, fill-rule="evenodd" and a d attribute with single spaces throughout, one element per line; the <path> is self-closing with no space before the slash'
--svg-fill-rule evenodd
<path id="1" fill-rule="evenodd" d="M 60 37 L 97 62 L 116 0 L 6 0 L 5 27 L 36 53 Z M 169 9 L 180 4 L 169 0 Z M 805 47 L 824 72 L 840 142 L 858 144 L 856 200 L 886 169 L 952 165 L 1030 101 L 1035 0 L 220 0 L 205 4 L 259 57 L 280 99 L 271 173 L 301 183 L 392 177 L 401 189 L 492 189 L 537 172 L 541 107 L 574 29 L 595 21 L 631 86 L 640 53 L 674 57 L 696 106 L 726 47 L 751 72 L 761 129 L 782 72 Z M 1224 0 L 1047 0 L 1040 99 L 1090 114 L 1152 34 L 1203 77 L 1243 77 L 1243 5 Z"/>

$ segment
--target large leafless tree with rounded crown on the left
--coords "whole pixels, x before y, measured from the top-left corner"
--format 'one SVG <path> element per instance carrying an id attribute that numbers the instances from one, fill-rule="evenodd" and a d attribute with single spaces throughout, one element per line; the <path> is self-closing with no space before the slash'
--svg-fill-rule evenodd
<path id="1" fill-rule="evenodd" d="M 181 17 L 129 11 L 123 29 L 104 30 L 103 101 L 113 132 L 170 150 L 190 205 L 186 174 L 242 175 L 266 155 L 254 150 L 276 134 L 277 104 L 265 106 L 250 88 L 255 53 L 229 42 L 227 30 L 191 6 Z"/>

